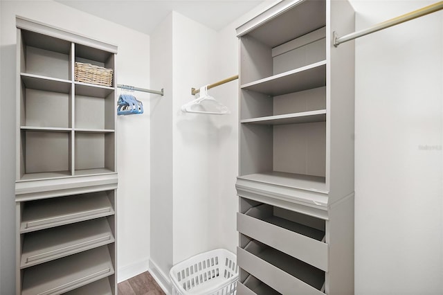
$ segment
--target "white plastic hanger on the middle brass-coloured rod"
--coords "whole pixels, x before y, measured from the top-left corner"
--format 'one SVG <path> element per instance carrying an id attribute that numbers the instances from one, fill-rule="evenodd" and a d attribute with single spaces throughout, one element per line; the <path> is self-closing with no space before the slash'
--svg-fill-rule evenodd
<path id="1" fill-rule="evenodd" d="M 208 95 L 208 85 L 200 88 L 199 98 L 182 105 L 181 110 L 186 113 L 197 114 L 224 115 L 229 113 L 228 107 Z"/>

